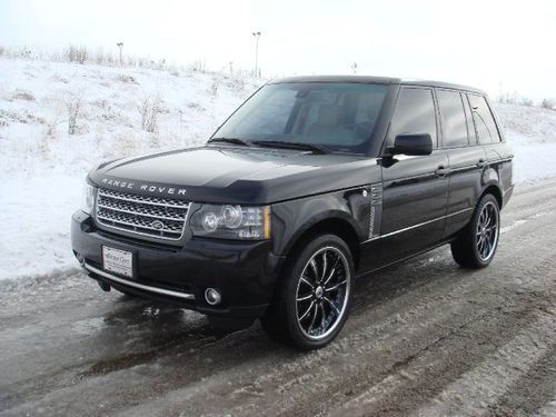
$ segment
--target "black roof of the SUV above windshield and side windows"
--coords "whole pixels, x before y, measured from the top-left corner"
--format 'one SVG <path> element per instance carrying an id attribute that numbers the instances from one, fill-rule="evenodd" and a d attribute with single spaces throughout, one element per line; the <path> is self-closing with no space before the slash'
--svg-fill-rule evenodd
<path id="1" fill-rule="evenodd" d="M 390 77 L 369 77 L 369 76 L 302 76 L 287 77 L 270 81 L 270 83 L 292 83 L 292 82 L 345 82 L 345 83 L 379 83 L 379 85 L 403 85 L 403 86 L 423 86 L 438 87 L 453 90 L 464 90 L 486 95 L 485 91 L 468 86 L 460 86 L 450 82 L 431 80 L 413 80 Z"/>

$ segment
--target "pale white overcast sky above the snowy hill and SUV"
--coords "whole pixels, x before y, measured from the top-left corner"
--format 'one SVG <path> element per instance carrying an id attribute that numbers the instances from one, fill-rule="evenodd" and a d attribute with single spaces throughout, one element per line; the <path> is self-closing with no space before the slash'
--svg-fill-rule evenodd
<path id="1" fill-rule="evenodd" d="M 438 79 L 556 98 L 556 1 L 0 0 L 0 44 L 69 43 L 264 76 Z M 1 80 L 1 75 L 0 75 Z M 1 81 L 0 81 L 1 82 Z"/>

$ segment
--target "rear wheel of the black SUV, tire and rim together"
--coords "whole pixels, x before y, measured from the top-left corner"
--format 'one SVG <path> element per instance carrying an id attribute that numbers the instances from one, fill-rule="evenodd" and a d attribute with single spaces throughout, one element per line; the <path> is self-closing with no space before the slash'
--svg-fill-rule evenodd
<path id="1" fill-rule="evenodd" d="M 484 216 L 489 216 L 490 220 L 486 220 Z M 490 224 L 485 224 L 485 221 L 490 221 Z M 454 260 L 464 268 L 487 267 L 496 254 L 499 234 L 500 209 L 498 201 L 493 195 L 487 193 L 477 205 L 469 225 L 451 242 Z"/>

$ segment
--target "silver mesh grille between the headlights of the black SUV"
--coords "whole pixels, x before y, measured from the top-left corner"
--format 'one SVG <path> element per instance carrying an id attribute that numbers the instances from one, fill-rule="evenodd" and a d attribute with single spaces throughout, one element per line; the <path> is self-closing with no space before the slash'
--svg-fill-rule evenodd
<path id="1" fill-rule="evenodd" d="M 97 221 L 106 227 L 160 239 L 183 236 L 187 201 L 143 197 L 100 188 L 97 193 Z"/>

